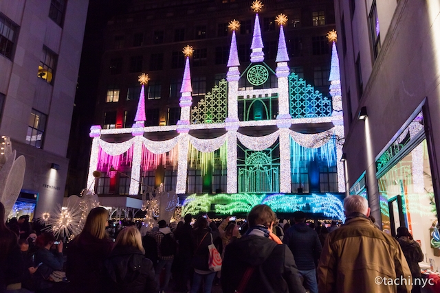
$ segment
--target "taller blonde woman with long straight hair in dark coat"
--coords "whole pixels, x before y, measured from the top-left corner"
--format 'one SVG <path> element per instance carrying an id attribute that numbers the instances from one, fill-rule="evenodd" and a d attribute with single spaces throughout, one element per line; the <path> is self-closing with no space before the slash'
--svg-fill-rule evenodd
<path id="1" fill-rule="evenodd" d="M 105 233 L 108 220 L 107 209 L 92 209 L 83 231 L 68 245 L 66 274 L 72 293 L 102 292 L 104 259 L 113 247 Z"/>

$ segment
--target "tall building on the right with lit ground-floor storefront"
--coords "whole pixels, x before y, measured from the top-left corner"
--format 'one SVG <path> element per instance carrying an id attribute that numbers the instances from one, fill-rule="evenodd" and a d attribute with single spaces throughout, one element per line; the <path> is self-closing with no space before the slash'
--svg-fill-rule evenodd
<path id="1" fill-rule="evenodd" d="M 349 194 L 440 262 L 438 1 L 335 1 Z M 434 268 L 435 270 L 435 268 Z"/>

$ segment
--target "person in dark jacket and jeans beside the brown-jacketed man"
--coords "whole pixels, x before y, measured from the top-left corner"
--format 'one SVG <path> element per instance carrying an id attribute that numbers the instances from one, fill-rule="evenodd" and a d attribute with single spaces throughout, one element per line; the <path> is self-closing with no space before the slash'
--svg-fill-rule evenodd
<path id="1" fill-rule="evenodd" d="M 310 293 L 318 293 L 316 263 L 318 263 L 322 251 L 321 242 L 318 233 L 305 223 L 305 213 L 296 211 L 294 220 L 294 226 L 284 233 L 283 243 L 292 250 L 296 266 L 298 266 Z"/>

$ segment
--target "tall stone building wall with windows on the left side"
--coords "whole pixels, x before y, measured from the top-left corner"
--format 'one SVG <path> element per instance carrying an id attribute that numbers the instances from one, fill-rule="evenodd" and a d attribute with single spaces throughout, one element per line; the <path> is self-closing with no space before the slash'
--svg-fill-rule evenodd
<path id="1" fill-rule="evenodd" d="M 1 36 L 11 49 L 0 52 L 0 134 L 25 156 L 23 191 L 38 196 L 36 216 L 63 202 L 88 2 L 0 3 L 1 21 L 14 31 Z"/>

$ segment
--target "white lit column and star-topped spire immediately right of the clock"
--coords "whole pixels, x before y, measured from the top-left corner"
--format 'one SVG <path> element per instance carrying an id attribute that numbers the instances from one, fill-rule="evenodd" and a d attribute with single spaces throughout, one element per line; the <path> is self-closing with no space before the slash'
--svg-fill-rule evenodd
<path id="1" fill-rule="evenodd" d="M 276 16 L 276 23 L 280 25 L 278 38 L 278 51 L 276 53 L 276 77 L 278 78 L 278 116 L 277 126 L 280 129 L 280 192 L 292 192 L 292 176 L 290 174 L 290 131 L 292 116 L 289 113 L 289 76 L 290 69 L 287 66 L 289 55 L 284 36 L 283 25 L 287 23 L 287 16 Z"/>

